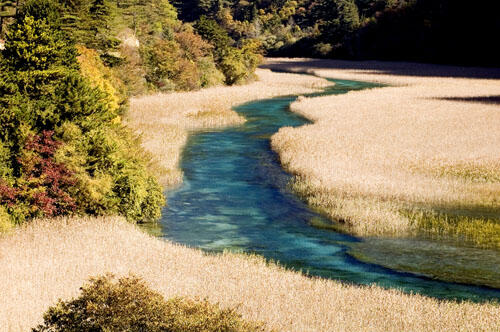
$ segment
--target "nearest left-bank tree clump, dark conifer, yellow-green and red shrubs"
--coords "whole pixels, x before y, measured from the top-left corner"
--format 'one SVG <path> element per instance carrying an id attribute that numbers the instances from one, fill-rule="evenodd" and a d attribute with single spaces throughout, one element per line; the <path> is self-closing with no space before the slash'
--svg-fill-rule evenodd
<path id="1" fill-rule="evenodd" d="M 30 0 L 0 57 L 0 226 L 66 214 L 159 217 L 147 156 L 120 123 L 124 97 L 64 29 L 60 5 Z M 89 66 L 93 59 L 94 66 Z M 87 64 L 86 64 L 87 62 Z"/>

